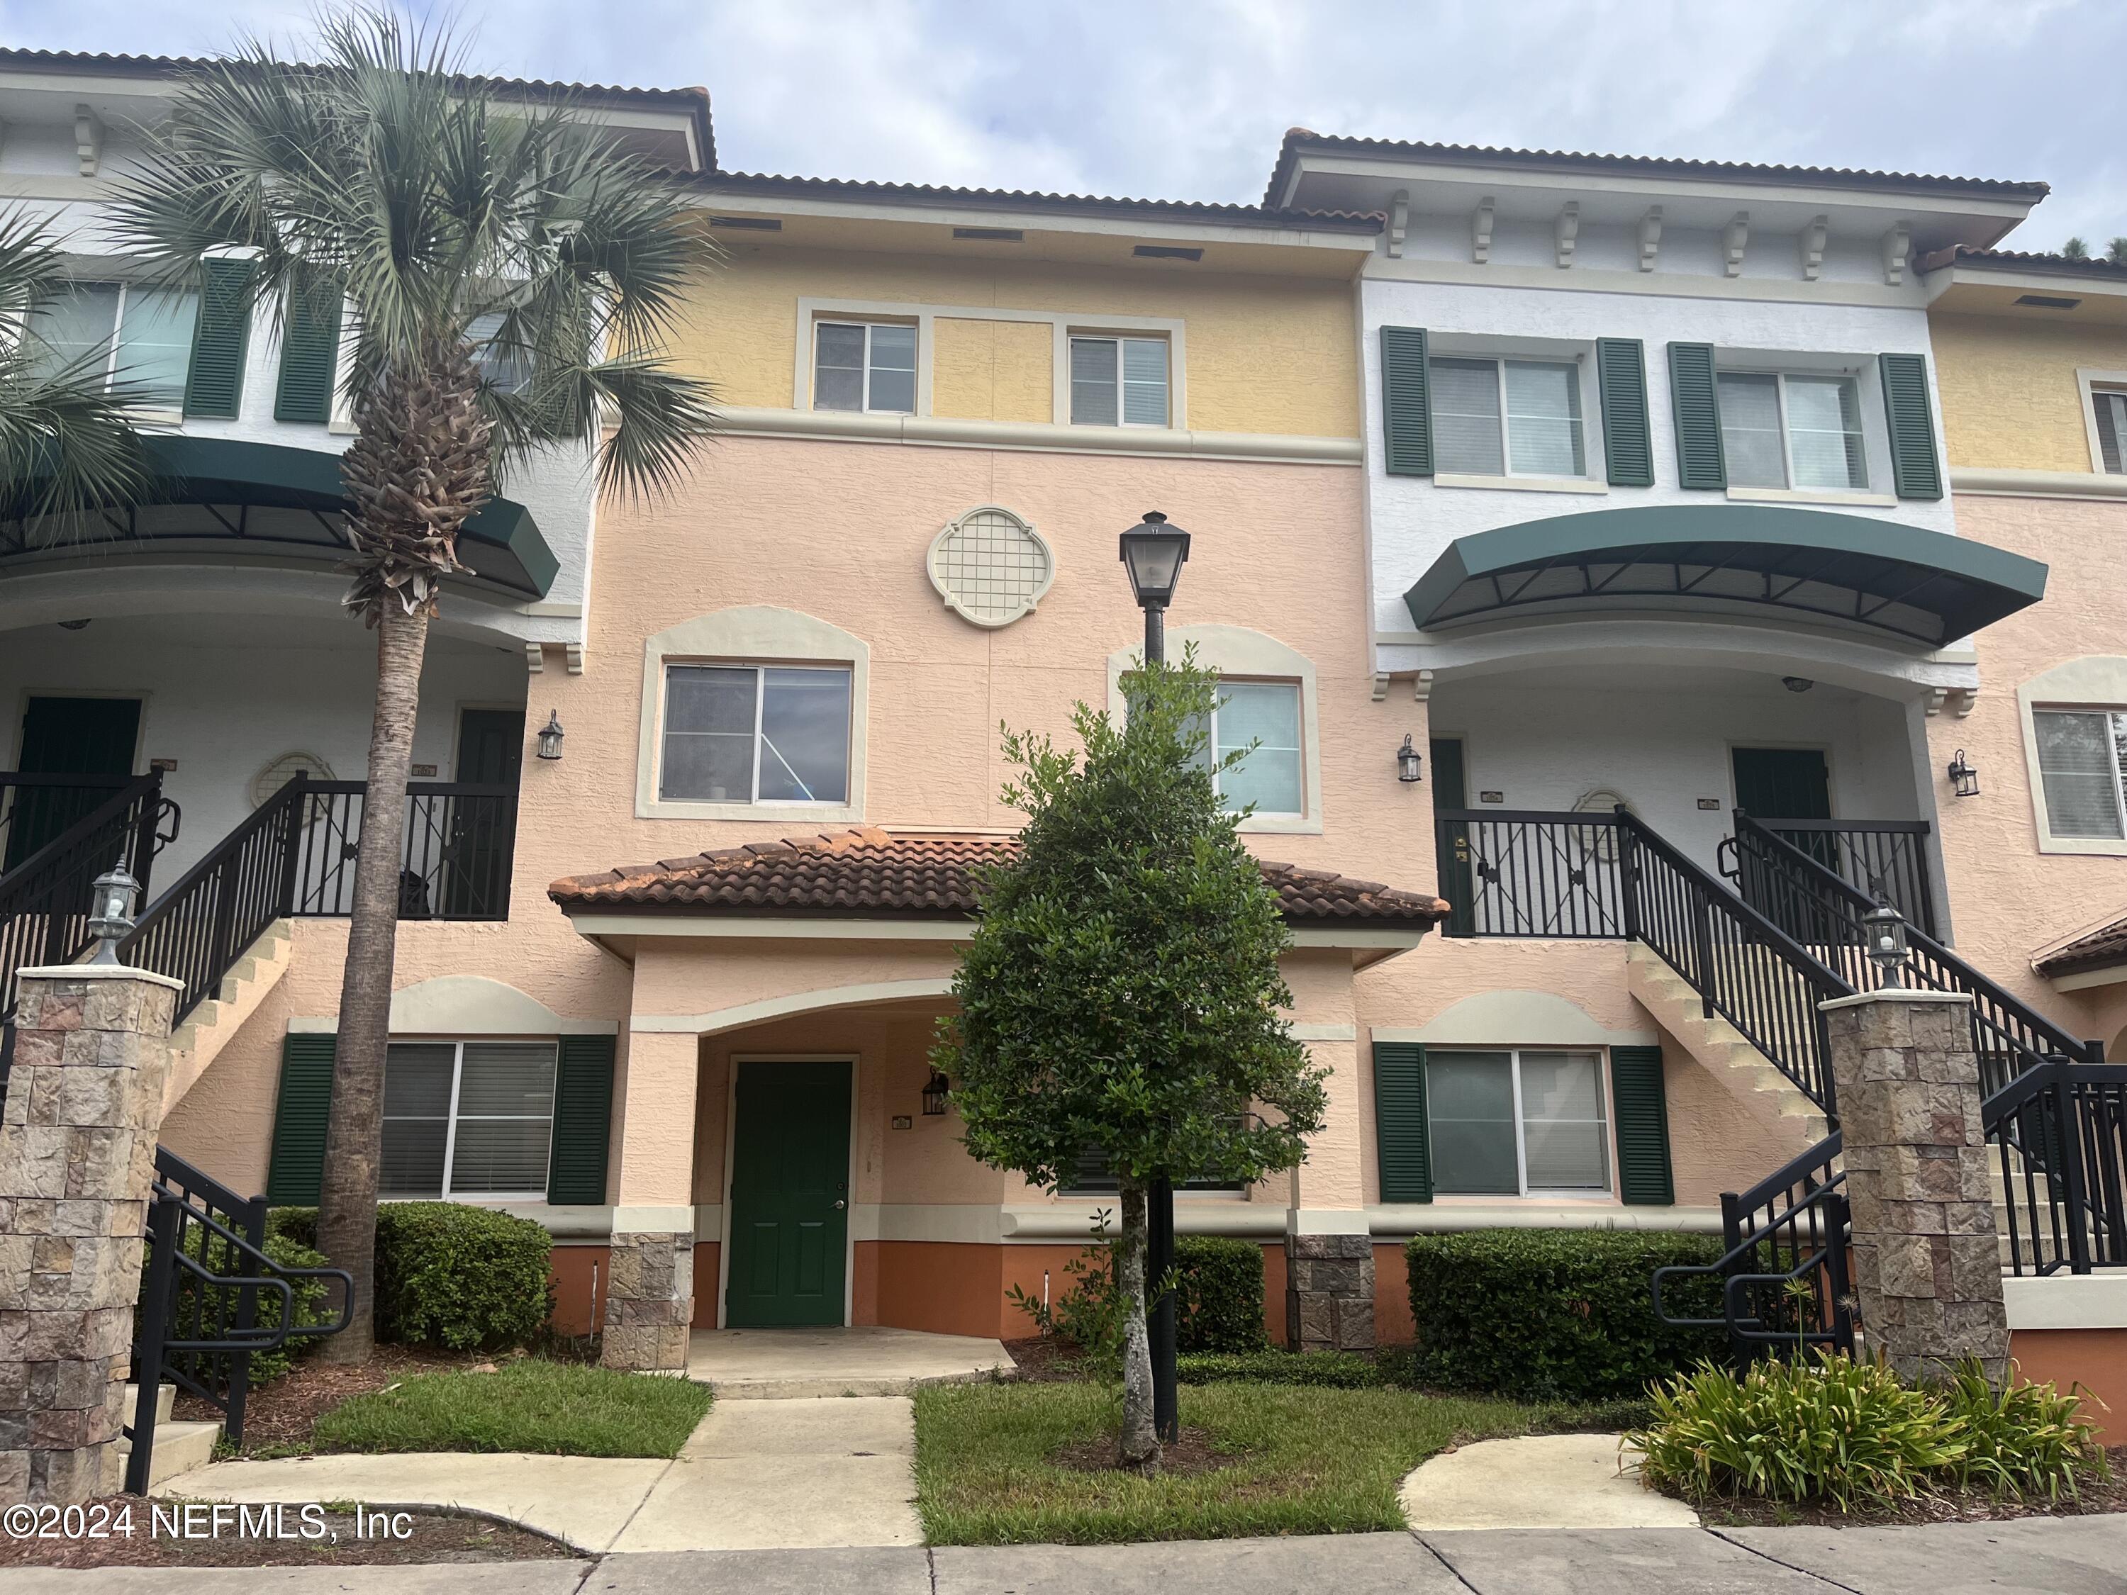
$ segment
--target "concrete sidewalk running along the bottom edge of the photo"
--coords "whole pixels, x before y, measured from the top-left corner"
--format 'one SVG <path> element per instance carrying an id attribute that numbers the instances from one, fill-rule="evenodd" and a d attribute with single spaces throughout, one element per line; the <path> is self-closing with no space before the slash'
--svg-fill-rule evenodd
<path id="1" fill-rule="evenodd" d="M 806 1510 L 806 1504 L 793 1504 Z M 9 1595 L 2127 1595 L 2127 1516 L 1455 1529 L 1144 1546 L 691 1550 L 440 1567 L 11 1572 Z"/>

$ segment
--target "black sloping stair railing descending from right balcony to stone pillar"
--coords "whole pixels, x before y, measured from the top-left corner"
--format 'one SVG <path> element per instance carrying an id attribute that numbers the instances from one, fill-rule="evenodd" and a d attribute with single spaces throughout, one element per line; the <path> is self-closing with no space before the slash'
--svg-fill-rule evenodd
<path id="1" fill-rule="evenodd" d="M 1631 815 L 1625 929 L 1727 1019 L 1829 1119 L 1838 1119 L 1821 1004 L 1855 987 Z"/>

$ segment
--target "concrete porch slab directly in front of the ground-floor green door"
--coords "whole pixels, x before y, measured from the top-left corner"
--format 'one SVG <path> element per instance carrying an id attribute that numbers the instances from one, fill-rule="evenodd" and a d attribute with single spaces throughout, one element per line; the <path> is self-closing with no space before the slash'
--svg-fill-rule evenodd
<path id="1" fill-rule="evenodd" d="M 921 1384 L 1012 1367 L 998 1340 L 919 1329 L 696 1329 L 687 1378 L 725 1401 L 804 1395 L 910 1395 Z"/>

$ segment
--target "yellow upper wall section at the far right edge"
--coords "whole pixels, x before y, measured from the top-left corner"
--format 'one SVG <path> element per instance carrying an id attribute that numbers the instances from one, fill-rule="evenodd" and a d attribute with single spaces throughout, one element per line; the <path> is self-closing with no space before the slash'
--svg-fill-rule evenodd
<path id="1" fill-rule="evenodd" d="M 1931 315 L 1953 466 L 2093 470 L 2076 368 L 2127 370 L 2127 328 Z"/>

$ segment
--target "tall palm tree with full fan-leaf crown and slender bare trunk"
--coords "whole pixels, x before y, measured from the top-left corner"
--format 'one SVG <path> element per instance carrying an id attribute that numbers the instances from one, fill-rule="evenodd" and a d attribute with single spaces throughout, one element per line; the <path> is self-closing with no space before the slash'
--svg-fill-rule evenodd
<path id="1" fill-rule="evenodd" d="M 345 296 L 353 321 L 342 570 L 376 629 L 376 708 L 317 1238 L 355 1278 L 325 1355 L 366 1361 L 406 772 L 438 589 L 510 461 L 596 447 L 602 489 L 679 485 L 715 417 L 706 383 L 657 351 L 717 251 L 681 187 L 568 94 L 468 77 L 445 32 L 355 11 L 319 26 L 319 55 L 247 43 L 185 68 L 113 228 L 157 276 L 236 247 L 283 323 L 300 296 Z"/>

